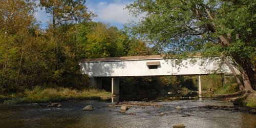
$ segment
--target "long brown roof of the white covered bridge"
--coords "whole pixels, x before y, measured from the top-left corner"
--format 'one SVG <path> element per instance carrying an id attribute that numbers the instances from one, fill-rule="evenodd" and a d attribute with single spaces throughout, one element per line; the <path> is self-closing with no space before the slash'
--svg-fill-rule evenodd
<path id="1" fill-rule="evenodd" d="M 108 62 L 108 61 L 125 61 L 125 60 L 149 60 L 162 59 L 163 55 L 147 55 L 147 56 L 122 56 L 122 57 L 106 57 L 106 58 L 90 58 L 81 59 L 79 62 Z"/>

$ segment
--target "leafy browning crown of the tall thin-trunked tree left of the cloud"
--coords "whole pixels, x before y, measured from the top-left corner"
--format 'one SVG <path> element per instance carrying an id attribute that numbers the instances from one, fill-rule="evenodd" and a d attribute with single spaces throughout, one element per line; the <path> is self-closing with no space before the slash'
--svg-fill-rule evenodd
<path id="1" fill-rule="evenodd" d="M 86 0 L 40 0 L 40 6 L 53 18 L 53 28 L 91 20 L 95 15 L 85 4 Z"/>

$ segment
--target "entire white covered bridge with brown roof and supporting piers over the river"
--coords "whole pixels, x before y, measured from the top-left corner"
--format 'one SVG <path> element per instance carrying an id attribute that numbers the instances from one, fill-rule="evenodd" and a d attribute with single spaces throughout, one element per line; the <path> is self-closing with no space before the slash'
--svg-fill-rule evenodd
<path id="1" fill-rule="evenodd" d="M 181 61 L 179 59 L 165 58 L 160 55 L 125 56 L 82 59 L 79 66 L 82 74 L 88 74 L 91 84 L 101 88 L 101 77 L 112 77 L 112 94 L 119 94 L 119 77 L 133 76 L 167 76 L 167 75 L 198 75 L 199 93 L 201 92 L 200 75 L 212 73 L 231 74 L 226 65 L 220 66 L 218 57 L 193 57 Z M 217 69 L 220 69 L 217 71 Z"/>

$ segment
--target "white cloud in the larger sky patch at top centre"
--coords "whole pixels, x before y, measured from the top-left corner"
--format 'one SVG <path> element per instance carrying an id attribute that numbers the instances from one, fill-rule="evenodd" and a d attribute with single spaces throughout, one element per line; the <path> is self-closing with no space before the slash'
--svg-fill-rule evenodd
<path id="1" fill-rule="evenodd" d="M 96 6 L 89 6 L 89 9 L 93 11 L 98 17 L 95 17 L 94 20 L 101 22 L 110 22 L 110 23 L 119 23 L 125 24 L 128 22 L 138 22 L 140 16 L 135 17 L 129 14 L 129 11 L 125 9 L 126 4 L 119 4 L 119 1 L 116 3 L 106 3 L 100 2 Z M 129 3 L 127 3 L 129 4 Z"/>

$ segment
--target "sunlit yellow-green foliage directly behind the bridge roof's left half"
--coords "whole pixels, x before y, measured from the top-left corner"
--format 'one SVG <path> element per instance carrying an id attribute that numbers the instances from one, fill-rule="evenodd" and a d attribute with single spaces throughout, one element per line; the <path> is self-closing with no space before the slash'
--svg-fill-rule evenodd
<path id="1" fill-rule="evenodd" d="M 103 23 L 78 24 L 78 41 L 86 58 L 126 56 L 134 42 L 127 33 Z M 136 40 L 137 41 L 137 40 Z"/>

